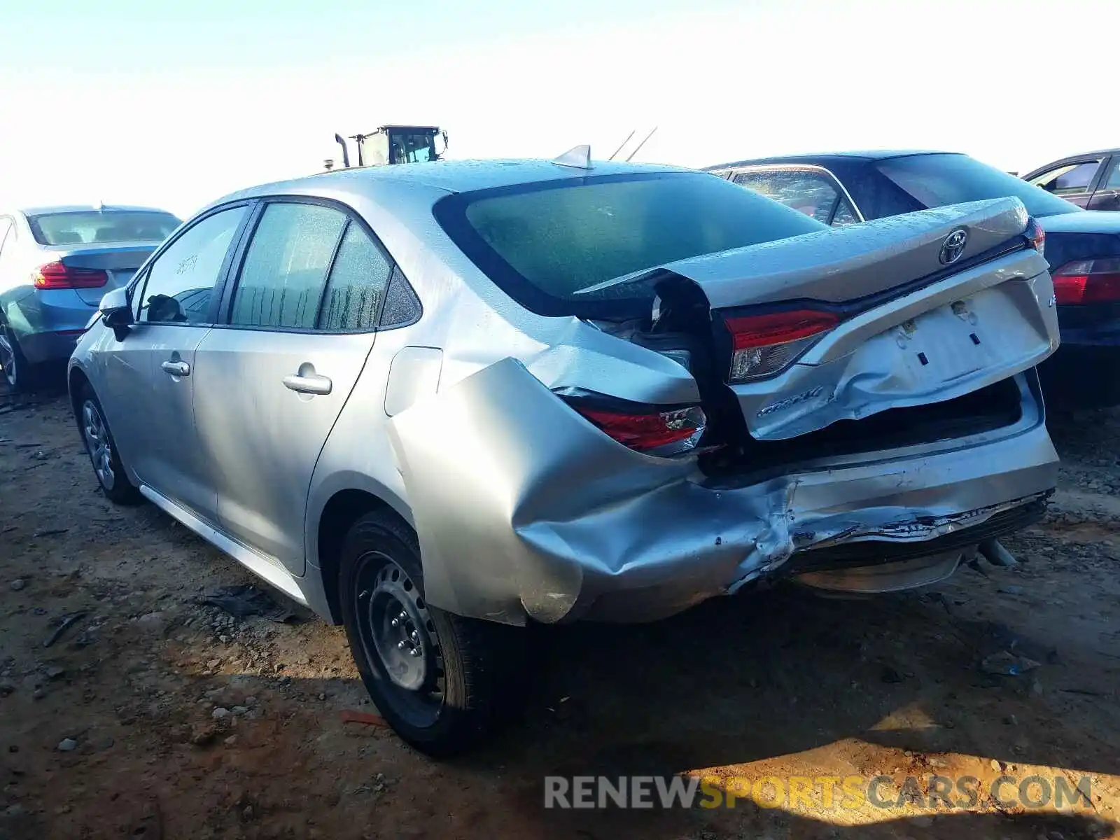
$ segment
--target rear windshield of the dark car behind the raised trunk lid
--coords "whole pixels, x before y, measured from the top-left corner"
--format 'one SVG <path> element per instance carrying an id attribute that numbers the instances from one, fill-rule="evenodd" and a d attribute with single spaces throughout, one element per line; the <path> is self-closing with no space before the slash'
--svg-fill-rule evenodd
<path id="1" fill-rule="evenodd" d="M 1080 209 L 1064 198 L 968 155 L 912 155 L 880 160 L 876 166 L 924 207 L 1015 196 L 1032 216 Z"/>

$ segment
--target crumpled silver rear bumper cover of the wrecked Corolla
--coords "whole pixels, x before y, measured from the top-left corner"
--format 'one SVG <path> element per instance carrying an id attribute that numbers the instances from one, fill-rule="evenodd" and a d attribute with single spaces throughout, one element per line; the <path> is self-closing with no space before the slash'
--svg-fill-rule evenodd
<path id="1" fill-rule="evenodd" d="M 814 550 L 935 544 L 1056 484 L 1040 409 L 1001 431 L 713 487 L 694 459 L 610 440 L 508 358 L 391 423 L 428 601 L 507 624 L 652 620 Z"/>

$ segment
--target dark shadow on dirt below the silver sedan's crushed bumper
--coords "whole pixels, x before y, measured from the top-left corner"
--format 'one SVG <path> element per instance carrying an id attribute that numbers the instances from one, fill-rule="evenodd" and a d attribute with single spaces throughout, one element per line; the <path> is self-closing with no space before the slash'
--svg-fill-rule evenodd
<path id="1" fill-rule="evenodd" d="M 1029 675 L 978 669 L 1009 646 L 1009 628 L 955 617 L 945 603 L 930 594 L 832 600 L 787 587 L 651 625 L 542 631 L 524 725 L 536 730 L 532 750 L 573 771 L 657 774 L 859 738 L 1120 772 L 1107 747 L 1070 755 L 1046 732 L 1002 725 L 1016 712 L 1046 713 L 1044 701 Z M 1049 653 L 1045 641 L 1016 634 L 1016 642 L 1042 661 Z M 978 717 L 984 711 L 991 717 Z M 508 748 L 525 740 L 522 731 Z"/>

